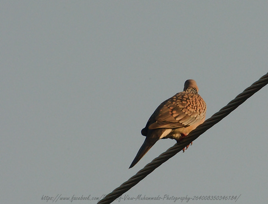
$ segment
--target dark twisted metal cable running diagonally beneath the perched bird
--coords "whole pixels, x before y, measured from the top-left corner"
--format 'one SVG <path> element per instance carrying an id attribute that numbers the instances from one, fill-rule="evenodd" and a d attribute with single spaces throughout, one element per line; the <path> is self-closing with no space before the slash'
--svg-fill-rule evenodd
<path id="1" fill-rule="evenodd" d="M 163 152 L 157 158 L 153 159 L 150 163 L 144 166 L 143 169 L 138 171 L 129 180 L 122 183 L 121 186 L 114 189 L 111 193 L 107 194 L 102 200 L 97 204 L 109 204 L 112 203 L 116 198 L 120 197 L 123 193 L 127 192 L 147 175 L 153 172 L 158 166 L 167 161 L 169 158 L 173 157 L 175 154 L 180 152 L 184 147 L 190 144 L 192 141 L 197 139 L 202 133 L 207 131 L 213 125 L 221 121 L 224 117 L 229 115 L 233 110 L 235 110 L 239 105 L 241 105 L 250 96 L 259 91 L 262 87 L 268 84 L 268 73 L 262 76 L 258 81 L 254 82 L 250 87 L 246 88 L 241 94 L 237 95 L 233 100 L 231 100 L 225 107 L 220 109 L 217 113 L 211 116 L 209 119 L 205 120 L 204 123 L 200 124 L 196 129 L 192 130 L 187 137 L 184 137 L 180 144 L 174 144 L 166 152 Z"/>

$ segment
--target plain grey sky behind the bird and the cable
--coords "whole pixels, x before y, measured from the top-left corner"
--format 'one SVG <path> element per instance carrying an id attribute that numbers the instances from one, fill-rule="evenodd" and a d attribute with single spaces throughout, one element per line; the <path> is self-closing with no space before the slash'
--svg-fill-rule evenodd
<path id="1" fill-rule="evenodd" d="M 97 203 L 175 144 L 158 141 L 128 169 L 141 129 L 187 79 L 209 118 L 268 71 L 267 1 L 1 1 L 0 9 L 3 204 Z M 113 203 L 268 203 L 267 93 Z M 124 200 L 139 195 L 165 199 Z"/>

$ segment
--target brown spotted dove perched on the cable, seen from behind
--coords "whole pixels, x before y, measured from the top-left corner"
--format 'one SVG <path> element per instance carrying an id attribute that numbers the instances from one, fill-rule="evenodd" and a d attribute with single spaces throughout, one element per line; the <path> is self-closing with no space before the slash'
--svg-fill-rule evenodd
<path id="1" fill-rule="evenodd" d="M 138 163 L 159 139 L 170 138 L 179 143 L 205 121 L 206 110 L 206 103 L 198 94 L 195 80 L 186 80 L 183 91 L 162 102 L 141 130 L 141 134 L 146 138 L 129 169 Z M 183 152 L 189 145 L 183 148 Z"/>

